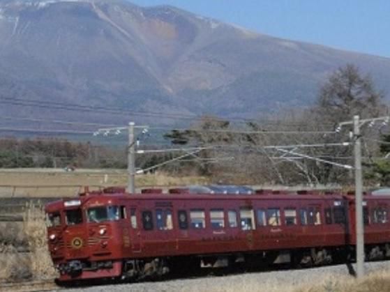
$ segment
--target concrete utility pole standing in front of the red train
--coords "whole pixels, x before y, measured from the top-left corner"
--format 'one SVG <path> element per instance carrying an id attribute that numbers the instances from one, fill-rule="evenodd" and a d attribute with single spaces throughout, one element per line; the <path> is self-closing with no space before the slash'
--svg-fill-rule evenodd
<path id="1" fill-rule="evenodd" d="M 354 116 L 354 160 L 355 160 L 355 214 L 356 214 L 356 262 L 357 278 L 364 275 L 364 231 L 363 231 L 363 183 L 361 176 L 361 137 L 359 116 Z"/>

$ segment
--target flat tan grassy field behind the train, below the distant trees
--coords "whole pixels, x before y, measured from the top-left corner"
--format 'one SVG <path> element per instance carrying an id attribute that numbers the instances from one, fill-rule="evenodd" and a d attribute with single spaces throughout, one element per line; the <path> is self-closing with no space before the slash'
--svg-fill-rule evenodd
<path id="1" fill-rule="evenodd" d="M 126 186 L 126 171 L 112 169 L 6 169 L 0 170 L 0 197 L 73 197 L 84 186 L 92 190 L 98 187 Z M 167 176 L 142 174 L 135 177 L 137 188 L 171 187 L 208 183 L 201 176 Z"/>

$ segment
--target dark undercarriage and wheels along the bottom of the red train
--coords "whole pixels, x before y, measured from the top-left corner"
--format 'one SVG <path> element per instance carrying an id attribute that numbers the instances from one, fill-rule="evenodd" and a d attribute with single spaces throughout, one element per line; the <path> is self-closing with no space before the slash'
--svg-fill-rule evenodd
<path id="1" fill-rule="evenodd" d="M 102 261 L 86 263 L 70 261 L 58 266 L 61 275 L 57 284 L 80 278 L 86 280 L 86 273 L 100 279 L 115 279 L 121 282 L 139 282 L 146 279 L 165 277 L 186 277 L 207 275 L 213 272 L 245 272 L 248 270 L 273 270 L 280 268 L 310 268 L 331 264 L 352 263 L 355 259 L 354 246 L 313 247 L 256 253 L 204 254 L 197 256 L 172 256 L 148 259 L 126 259 L 124 261 Z M 390 243 L 366 245 L 366 261 L 390 259 Z M 119 269 L 118 269 L 119 267 Z M 110 272 L 114 274 L 110 275 Z M 351 271 L 353 274 L 353 271 Z M 80 277 L 83 275 L 83 277 Z M 102 277 L 103 276 L 103 277 Z M 65 280 L 65 281 L 63 281 Z"/>

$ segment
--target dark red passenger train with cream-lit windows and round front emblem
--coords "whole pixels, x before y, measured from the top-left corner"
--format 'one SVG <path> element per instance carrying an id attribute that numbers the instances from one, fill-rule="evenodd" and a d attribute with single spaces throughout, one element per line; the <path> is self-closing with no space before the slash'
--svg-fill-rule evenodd
<path id="1" fill-rule="evenodd" d="M 317 265 L 353 254 L 353 195 L 172 192 L 108 189 L 49 203 L 59 281 L 142 279 L 239 262 Z M 390 195 L 363 199 L 366 258 L 390 256 Z"/>

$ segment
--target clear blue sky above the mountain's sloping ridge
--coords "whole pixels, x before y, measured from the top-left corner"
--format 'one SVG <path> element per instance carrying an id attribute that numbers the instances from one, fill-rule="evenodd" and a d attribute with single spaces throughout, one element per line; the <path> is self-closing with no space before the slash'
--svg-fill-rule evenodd
<path id="1" fill-rule="evenodd" d="M 130 0 L 169 4 L 271 36 L 390 57 L 389 0 Z"/>

